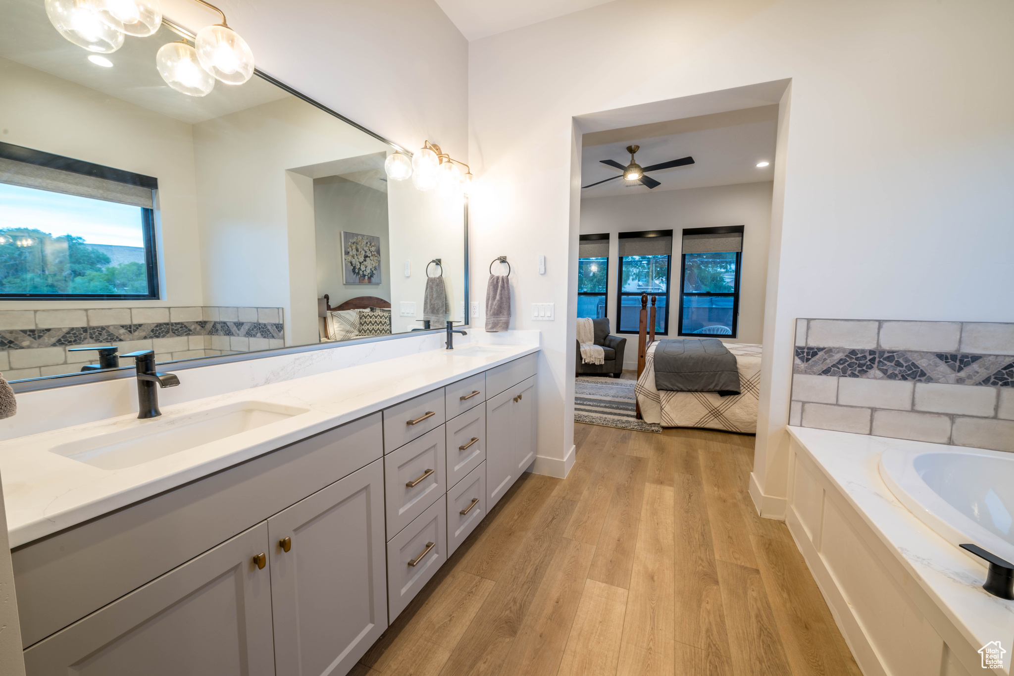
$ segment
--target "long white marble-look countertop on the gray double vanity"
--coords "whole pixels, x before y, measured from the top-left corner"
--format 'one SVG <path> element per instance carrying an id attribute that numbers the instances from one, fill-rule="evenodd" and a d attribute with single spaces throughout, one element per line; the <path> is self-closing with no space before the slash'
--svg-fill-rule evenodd
<path id="1" fill-rule="evenodd" d="M 479 347 L 469 355 L 469 347 Z M 136 414 L 0 442 L 0 475 L 10 546 L 55 533 L 113 510 L 263 455 L 419 394 L 538 352 L 537 345 L 462 343 L 303 378 L 164 405 L 162 416 Z M 180 387 L 186 387 L 186 381 Z M 144 426 L 193 422 L 202 411 L 258 401 L 306 412 L 214 443 L 122 469 L 101 469 L 51 449 Z M 143 443 L 140 441 L 139 443 Z M 64 446 L 64 448 L 67 448 Z"/>

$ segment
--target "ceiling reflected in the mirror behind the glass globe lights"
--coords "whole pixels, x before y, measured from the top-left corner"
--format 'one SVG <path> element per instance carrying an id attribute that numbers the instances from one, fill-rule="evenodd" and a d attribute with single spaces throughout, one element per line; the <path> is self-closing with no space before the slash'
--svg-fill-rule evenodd
<path id="1" fill-rule="evenodd" d="M 155 54 L 179 35 L 162 26 L 149 37 L 127 36 L 103 55 L 113 68 L 88 61 L 88 52 L 65 40 L 50 23 L 42 0 L 0 0 L 0 57 L 56 75 L 142 107 L 194 124 L 291 96 L 252 77 L 241 85 L 215 83 L 207 96 L 182 94 L 162 80 Z"/>

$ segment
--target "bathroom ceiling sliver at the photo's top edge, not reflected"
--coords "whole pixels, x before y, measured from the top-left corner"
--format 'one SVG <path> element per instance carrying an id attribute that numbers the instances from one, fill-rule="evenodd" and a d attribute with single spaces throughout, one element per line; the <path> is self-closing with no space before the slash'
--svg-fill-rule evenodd
<path id="1" fill-rule="evenodd" d="M 523 25 L 578 12 L 611 0 L 437 0 L 465 40 L 473 41 Z"/>

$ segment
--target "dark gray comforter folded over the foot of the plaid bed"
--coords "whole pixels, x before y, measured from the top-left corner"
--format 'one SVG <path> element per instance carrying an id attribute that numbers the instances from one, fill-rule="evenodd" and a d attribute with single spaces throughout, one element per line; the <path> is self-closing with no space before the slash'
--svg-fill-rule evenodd
<path id="1" fill-rule="evenodd" d="M 673 392 L 739 394 L 736 356 L 718 339 L 659 341 L 655 348 L 655 388 Z"/>

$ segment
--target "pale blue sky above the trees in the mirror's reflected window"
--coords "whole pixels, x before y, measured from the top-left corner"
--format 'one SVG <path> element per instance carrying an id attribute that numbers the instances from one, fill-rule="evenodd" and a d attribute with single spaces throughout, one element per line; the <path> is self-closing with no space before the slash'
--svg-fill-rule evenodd
<path id="1" fill-rule="evenodd" d="M 0 183 L 0 228 L 34 228 L 89 244 L 144 246 L 141 208 Z"/>

